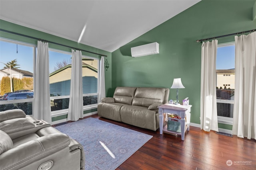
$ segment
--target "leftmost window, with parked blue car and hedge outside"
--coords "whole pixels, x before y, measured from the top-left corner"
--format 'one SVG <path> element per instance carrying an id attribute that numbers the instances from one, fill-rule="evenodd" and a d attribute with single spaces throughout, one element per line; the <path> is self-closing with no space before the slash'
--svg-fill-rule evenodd
<path id="1" fill-rule="evenodd" d="M 22 109 L 32 114 L 35 55 L 35 45 L 0 38 L 0 111 Z"/>

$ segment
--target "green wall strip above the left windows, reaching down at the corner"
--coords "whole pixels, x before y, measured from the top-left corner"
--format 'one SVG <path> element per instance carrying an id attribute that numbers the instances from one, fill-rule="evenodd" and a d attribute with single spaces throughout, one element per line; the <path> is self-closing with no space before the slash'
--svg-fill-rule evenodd
<path id="1" fill-rule="evenodd" d="M 75 48 L 78 48 L 78 49 L 83 49 L 83 50 L 86 50 L 86 51 L 92 51 L 94 53 L 107 55 L 108 57 L 105 57 L 105 60 L 106 59 L 108 60 L 108 63 L 110 64 L 110 66 L 112 65 L 111 64 L 112 63 L 112 59 L 111 59 L 112 54 L 108 51 L 104 51 L 104 50 L 101 50 L 101 49 L 90 47 L 88 45 L 77 43 L 75 41 L 71 41 L 71 40 L 68 40 L 68 39 L 57 37 L 55 35 L 44 33 L 42 31 L 38 31 L 38 30 L 35 30 L 35 29 L 30 29 L 28 27 L 24 27 L 24 26 L 21 26 L 21 25 L 10 23 L 10 22 L 4 21 L 4 20 L 0 20 L 0 28 L 8 30 L 8 31 L 13 31 L 13 32 L 16 32 L 16 33 L 21 33 L 21 34 L 24 34 L 24 35 L 29 35 L 31 37 L 36 37 L 36 38 L 52 41 L 52 42 L 55 42 L 55 43 L 68 45 L 70 47 L 75 47 Z M 25 43 L 30 43 L 30 44 L 37 44 L 36 39 L 31 39 L 31 38 L 23 37 L 23 36 L 20 36 L 20 35 L 6 33 L 4 31 L 0 31 L 0 37 L 7 38 L 7 39 L 12 39 L 12 40 L 16 40 L 16 41 L 21 41 L 21 42 L 25 42 Z M 51 44 L 51 43 L 49 43 L 49 48 L 71 52 L 71 49 L 68 48 L 68 47 L 63 47 L 63 46 L 55 45 L 55 44 Z M 95 58 L 100 59 L 100 55 L 95 55 L 95 54 L 87 53 L 87 52 L 84 52 L 84 51 L 82 51 L 82 55 L 87 55 L 87 56 L 90 56 L 90 57 L 95 57 Z M 111 70 L 112 70 L 111 67 L 108 68 L 107 71 L 105 70 L 106 91 L 109 91 L 109 89 L 111 89 L 111 87 L 112 87 Z"/>

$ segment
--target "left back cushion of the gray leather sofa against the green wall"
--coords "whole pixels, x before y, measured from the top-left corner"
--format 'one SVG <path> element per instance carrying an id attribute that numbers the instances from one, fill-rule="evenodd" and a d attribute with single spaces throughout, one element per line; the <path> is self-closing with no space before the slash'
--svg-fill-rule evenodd
<path id="1" fill-rule="evenodd" d="M 116 87 L 113 98 L 116 103 L 132 105 L 136 87 Z"/>

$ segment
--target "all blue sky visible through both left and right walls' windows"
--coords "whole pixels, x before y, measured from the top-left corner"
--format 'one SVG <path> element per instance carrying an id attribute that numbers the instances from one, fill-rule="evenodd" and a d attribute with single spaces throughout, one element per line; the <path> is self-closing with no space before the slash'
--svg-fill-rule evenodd
<path id="1" fill-rule="evenodd" d="M 218 47 L 216 58 L 216 69 L 232 69 L 235 68 L 235 47 L 224 46 Z M 25 45 L 0 41 L 0 69 L 4 68 L 3 63 L 17 59 L 20 70 L 26 70 L 33 73 L 33 48 Z M 56 63 L 64 60 L 70 61 L 71 53 L 58 53 L 56 51 L 49 52 L 49 72 L 54 72 Z"/>

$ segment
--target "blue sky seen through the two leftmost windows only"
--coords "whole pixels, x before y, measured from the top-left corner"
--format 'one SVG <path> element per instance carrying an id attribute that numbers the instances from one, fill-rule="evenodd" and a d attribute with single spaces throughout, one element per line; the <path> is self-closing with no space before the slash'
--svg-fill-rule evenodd
<path id="1" fill-rule="evenodd" d="M 17 59 L 20 70 L 26 70 L 33 73 L 33 48 L 25 45 L 9 43 L 0 41 L 0 69 L 4 68 L 3 63 L 10 62 Z M 56 63 L 62 61 L 71 61 L 71 53 L 58 53 L 56 51 L 49 51 L 49 72 L 54 72 Z"/>

